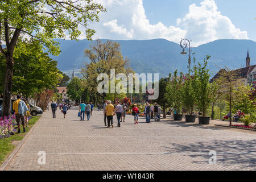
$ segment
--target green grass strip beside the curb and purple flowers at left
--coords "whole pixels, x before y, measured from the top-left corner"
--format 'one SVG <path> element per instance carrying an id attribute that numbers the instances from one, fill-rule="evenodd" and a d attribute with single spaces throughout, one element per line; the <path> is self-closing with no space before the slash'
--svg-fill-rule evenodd
<path id="1" fill-rule="evenodd" d="M 38 121 L 40 117 L 41 116 L 32 116 L 32 118 L 28 121 L 29 128 L 26 128 L 27 133 L 32 128 L 32 126 L 35 125 L 35 123 Z M 17 131 L 18 131 L 18 127 L 17 127 Z M 14 135 L 11 135 L 11 137 L 0 139 L 0 166 L 5 161 L 7 156 L 9 156 L 9 154 L 11 154 L 11 152 L 16 147 L 12 143 L 17 140 L 22 140 L 27 133 L 23 133 L 23 127 L 20 126 L 20 134 L 14 134 Z"/>

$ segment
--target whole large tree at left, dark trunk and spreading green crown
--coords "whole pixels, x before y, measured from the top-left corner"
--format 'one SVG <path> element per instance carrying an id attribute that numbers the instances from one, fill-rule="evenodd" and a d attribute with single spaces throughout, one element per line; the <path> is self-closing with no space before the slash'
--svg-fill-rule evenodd
<path id="1" fill-rule="evenodd" d="M 85 36 L 91 40 L 95 31 L 88 28 L 88 22 L 98 22 L 101 11 L 106 10 L 90 0 L 0 1 L 0 52 L 6 59 L 3 115 L 10 115 L 14 51 L 24 52 L 28 42 L 40 42 L 50 53 L 58 55 L 59 46 L 53 39 L 69 36 L 77 40 L 81 35 L 79 26 L 85 28 Z"/>

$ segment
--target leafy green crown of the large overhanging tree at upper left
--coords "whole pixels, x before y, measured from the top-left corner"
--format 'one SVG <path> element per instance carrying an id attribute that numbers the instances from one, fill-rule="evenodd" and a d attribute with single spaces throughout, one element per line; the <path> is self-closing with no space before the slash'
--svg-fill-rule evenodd
<path id="1" fill-rule="evenodd" d="M 20 41 L 26 43 L 39 41 L 49 52 L 57 55 L 59 47 L 53 39 L 69 35 L 69 38 L 77 40 L 82 34 L 79 30 L 81 26 L 86 38 L 91 40 L 95 31 L 88 27 L 88 21 L 98 22 L 98 14 L 106 10 L 91 0 L 79 0 L 76 3 L 72 0 L 19 0 L 0 1 L 0 11 L 0 23 L 3 25 L 6 20 L 8 26 L 12 27 L 7 30 L 10 36 L 18 35 Z M 15 31 L 19 34 L 15 34 Z M 0 32 L 1 38 L 5 37 L 4 32 Z"/>

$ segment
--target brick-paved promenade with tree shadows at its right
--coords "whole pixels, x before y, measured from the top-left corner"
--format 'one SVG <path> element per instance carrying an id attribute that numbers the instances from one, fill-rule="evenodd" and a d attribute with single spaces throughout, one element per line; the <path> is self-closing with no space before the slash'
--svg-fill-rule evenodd
<path id="1" fill-rule="evenodd" d="M 255 132 L 163 121 L 104 126 L 103 111 L 80 121 L 78 110 L 46 111 L 7 170 L 256 170 Z M 85 115 L 86 118 L 86 115 Z M 86 120 L 86 119 L 85 119 Z M 209 151 L 217 164 L 209 164 Z M 46 152 L 46 164 L 38 152 Z"/>

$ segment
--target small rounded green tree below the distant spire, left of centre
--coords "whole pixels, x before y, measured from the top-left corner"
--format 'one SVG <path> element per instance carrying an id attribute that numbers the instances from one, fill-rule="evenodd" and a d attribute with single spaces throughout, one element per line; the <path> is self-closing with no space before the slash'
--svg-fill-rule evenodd
<path id="1" fill-rule="evenodd" d="M 73 77 L 67 86 L 67 94 L 71 100 L 79 103 L 81 100 L 82 92 L 84 92 L 85 83 L 81 78 Z"/>

